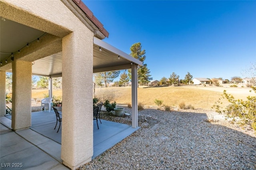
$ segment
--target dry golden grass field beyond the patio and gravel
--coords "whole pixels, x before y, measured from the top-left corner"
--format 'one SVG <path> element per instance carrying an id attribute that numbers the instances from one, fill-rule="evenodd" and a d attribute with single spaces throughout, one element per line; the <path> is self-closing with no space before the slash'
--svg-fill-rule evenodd
<path id="1" fill-rule="evenodd" d="M 248 95 L 255 96 L 254 92 L 250 93 L 248 87 L 215 87 L 215 86 L 169 86 L 169 87 L 143 87 L 138 88 L 138 102 L 144 105 L 156 105 L 155 99 L 162 100 L 163 105 L 178 107 L 182 101 L 195 108 L 211 109 L 212 105 L 221 97 L 223 91 L 226 90 L 236 99 L 246 99 Z M 100 92 L 106 94 L 114 94 L 114 101 L 118 104 L 132 103 L 131 87 L 108 87 L 96 89 L 96 95 Z M 32 98 L 43 98 L 43 93 L 48 90 L 32 90 Z M 54 90 L 53 94 L 58 97 L 62 96 L 62 90 Z M 223 100 L 224 105 L 228 105 L 228 101 Z"/>

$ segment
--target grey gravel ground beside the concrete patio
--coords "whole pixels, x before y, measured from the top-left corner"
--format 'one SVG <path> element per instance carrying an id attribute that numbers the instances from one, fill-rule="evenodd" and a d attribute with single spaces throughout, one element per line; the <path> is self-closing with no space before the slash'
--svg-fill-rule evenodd
<path id="1" fill-rule="evenodd" d="M 102 113 L 101 117 L 131 125 L 130 116 Z M 138 118 L 139 130 L 78 169 L 256 169 L 254 131 L 231 124 L 223 115 L 151 107 L 139 111 Z"/>

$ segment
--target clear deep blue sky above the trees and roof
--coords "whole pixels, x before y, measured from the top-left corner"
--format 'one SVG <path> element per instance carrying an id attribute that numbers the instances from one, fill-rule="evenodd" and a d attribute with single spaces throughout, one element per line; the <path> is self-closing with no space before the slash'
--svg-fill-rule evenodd
<path id="1" fill-rule="evenodd" d="M 256 1 L 87 1 L 110 33 L 104 41 L 130 54 L 142 43 L 153 79 L 242 75 L 256 63 Z"/>

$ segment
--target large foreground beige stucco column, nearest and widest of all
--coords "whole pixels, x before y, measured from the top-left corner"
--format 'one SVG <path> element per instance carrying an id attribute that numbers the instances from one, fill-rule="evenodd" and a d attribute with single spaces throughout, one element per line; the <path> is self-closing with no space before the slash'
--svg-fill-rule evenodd
<path id="1" fill-rule="evenodd" d="M 76 30 L 62 39 L 61 158 L 71 169 L 90 162 L 93 155 L 92 59 L 90 30 Z"/>

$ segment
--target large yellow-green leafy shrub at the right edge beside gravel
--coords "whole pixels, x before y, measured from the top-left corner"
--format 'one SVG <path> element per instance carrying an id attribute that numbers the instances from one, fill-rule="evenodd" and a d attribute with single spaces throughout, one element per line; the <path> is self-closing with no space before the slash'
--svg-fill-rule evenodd
<path id="1" fill-rule="evenodd" d="M 252 89 L 256 93 L 256 87 L 252 87 Z M 239 117 L 241 119 L 240 125 L 249 125 L 256 130 L 256 96 L 248 96 L 247 100 L 234 99 L 224 90 L 222 99 L 227 99 L 231 104 L 223 108 L 221 107 L 221 99 L 219 99 L 212 106 L 212 109 L 215 109 L 217 113 L 224 113 L 226 117 Z"/>

